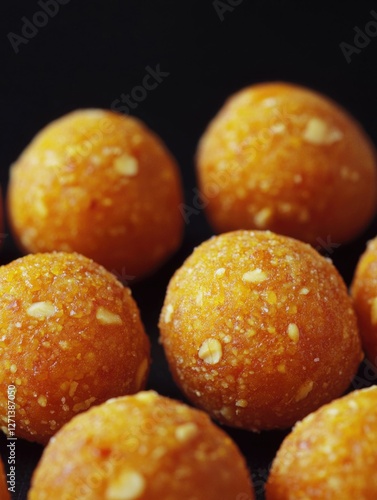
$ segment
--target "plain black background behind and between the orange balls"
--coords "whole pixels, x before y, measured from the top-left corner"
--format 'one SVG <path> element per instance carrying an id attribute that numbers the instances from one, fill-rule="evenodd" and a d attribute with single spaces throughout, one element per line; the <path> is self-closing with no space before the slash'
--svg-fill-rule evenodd
<path id="1" fill-rule="evenodd" d="M 224 0 L 225 3 L 226 0 Z M 181 167 L 186 203 L 195 188 L 194 154 L 206 124 L 226 97 L 255 82 L 286 80 L 317 89 L 347 108 L 377 143 L 377 37 L 347 63 L 341 42 L 353 44 L 353 28 L 372 19 L 375 2 L 243 0 L 221 20 L 213 1 L 78 1 L 61 5 L 58 14 L 16 54 L 10 32 L 21 35 L 23 16 L 33 19 L 37 1 L 0 4 L 0 179 L 6 191 L 9 165 L 33 135 L 51 120 L 76 108 L 110 108 L 122 93 L 140 85 L 146 66 L 168 72 L 164 81 L 132 114 L 166 142 Z M 5 229 L 5 232 L 9 231 Z M 356 242 L 330 257 L 350 282 L 365 241 L 377 224 Z M 171 274 L 209 237 L 203 213 L 190 218 L 177 255 L 154 276 L 133 287 L 153 343 L 149 386 L 181 397 L 157 344 L 157 320 Z M 18 256 L 11 236 L 4 239 L 1 263 Z M 1 367 L 0 367 L 1 369 Z M 375 382 L 362 368 L 362 384 Z M 284 432 L 254 435 L 229 431 L 248 459 L 257 492 Z M 0 438 L 6 459 L 5 440 Z M 41 447 L 17 443 L 15 498 L 26 498 L 28 480 Z"/>

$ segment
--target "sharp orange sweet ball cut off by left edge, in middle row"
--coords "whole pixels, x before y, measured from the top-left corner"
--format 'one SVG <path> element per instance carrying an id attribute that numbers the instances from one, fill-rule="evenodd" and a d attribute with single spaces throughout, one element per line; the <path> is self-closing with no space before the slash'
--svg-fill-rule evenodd
<path id="1" fill-rule="evenodd" d="M 111 273 L 64 252 L 0 267 L 0 425 L 16 387 L 16 435 L 46 443 L 77 413 L 144 388 L 149 340 Z"/>

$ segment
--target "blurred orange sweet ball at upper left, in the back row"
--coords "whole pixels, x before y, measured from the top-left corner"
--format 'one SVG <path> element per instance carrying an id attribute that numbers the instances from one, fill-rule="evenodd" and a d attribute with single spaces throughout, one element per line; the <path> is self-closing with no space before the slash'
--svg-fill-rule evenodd
<path id="1" fill-rule="evenodd" d="M 180 245 L 177 164 L 135 118 L 89 109 L 45 127 L 10 171 L 8 211 L 25 252 L 79 252 L 132 281 Z"/>

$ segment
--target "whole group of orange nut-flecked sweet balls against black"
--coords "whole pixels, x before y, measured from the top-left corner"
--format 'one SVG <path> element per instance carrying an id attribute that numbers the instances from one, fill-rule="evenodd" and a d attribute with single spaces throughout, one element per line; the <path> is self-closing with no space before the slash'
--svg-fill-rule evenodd
<path id="1" fill-rule="evenodd" d="M 370 224 L 370 139 L 327 97 L 259 84 L 212 120 L 196 167 L 218 235 L 171 278 L 159 328 L 198 409 L 144 391 L 149 340 L 113 274 L 142 279 L 181 243 L 179 169 L 161 139 L 134 118 L 80 110 L 12 165 L 7 213 L 26 256 L 0 267 L 0 425 L 7 433 L 12 382 L 16 435 L 46 445 L 28 498 L 254 499 L 244 457 L 210 417 L 294 426 L 268 500 L 377 498 L 377 387 L 343 396 L 364 353 L 377 364 L 377 240 L 350 295 L 313 248 Z"/>

